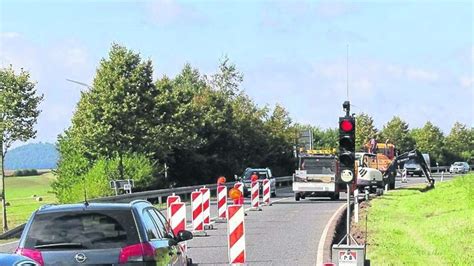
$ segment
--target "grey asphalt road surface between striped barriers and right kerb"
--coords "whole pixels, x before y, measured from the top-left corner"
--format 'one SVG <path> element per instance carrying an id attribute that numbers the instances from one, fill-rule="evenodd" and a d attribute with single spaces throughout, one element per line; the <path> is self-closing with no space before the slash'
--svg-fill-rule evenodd
<path id="1" fill-rule="evenodd" d="M 247 212 L 244 222 L 247 263 L 314 265 L 322 231 L 344 200 L 320 198 L 295 202 L 291 188 L 280 189 L 277 194 L 272 206 Z M 207 233 L 207 237 L 189 241 L 189 257 L 199 265 L 229 263 L 226 224 L 214 224 L 214 230 Z"/>

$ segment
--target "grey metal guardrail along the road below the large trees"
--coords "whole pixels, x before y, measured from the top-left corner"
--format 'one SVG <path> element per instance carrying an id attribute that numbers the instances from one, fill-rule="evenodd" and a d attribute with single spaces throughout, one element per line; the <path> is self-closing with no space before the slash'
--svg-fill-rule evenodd
<path id="1" fill-rule="evenodd" d="M 293 180 L 292 176 L 282 176 L 282 177 L 275 177 L 275 182 L 277 186 L 282 185 L 289 185 Z M 227 182 L 225 185 L 227 187 L 233 187 L 236 182 Z M 167 197 L 171 194 L 176 194 L 182 196 L 184 200 L 189 198 L 191 192 L 195 191 L 196 189 L 200 189 L 203 186 L 210 188 L 211 191 L 217 189 L 217 184 L 206 184 L 206 185 L 196 185 L 196 186 L 188 186 L 188 187 L 177 187 L 177 188 L 166 188 L 166 189 L 158 189 L 158 190 L 150 190 L 150 191 L 142 191 L 142 192 L 135 192 L 131 194 L 122 194 L 117 196 L 110 196 L 110 197 L 103 197 L 103 198 L 96 198 L 91 199 L 91 202 L 121 202 L 127 203 L 133 200 L 144 199 L 152 202 L 163 203 L 163 198 Z"/>

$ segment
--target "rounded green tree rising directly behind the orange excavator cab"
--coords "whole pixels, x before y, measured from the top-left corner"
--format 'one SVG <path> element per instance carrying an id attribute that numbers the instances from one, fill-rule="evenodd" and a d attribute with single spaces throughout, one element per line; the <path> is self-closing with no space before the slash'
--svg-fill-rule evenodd
<path id="1" fill-rule="evenodd" d="M 401 152 L 412 150 L 415 145 L 408 124 L 398 116 L 394 116 L 380 131 L 378 141 L 385 142 L 387 140 L 395 144 Z"/>

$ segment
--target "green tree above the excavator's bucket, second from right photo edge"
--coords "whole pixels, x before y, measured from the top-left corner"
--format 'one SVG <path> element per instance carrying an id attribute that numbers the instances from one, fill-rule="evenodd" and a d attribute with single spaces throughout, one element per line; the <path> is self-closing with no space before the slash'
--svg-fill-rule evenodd
<path id="1" fill-rule="evenodd" d="M 415 140 L 416 148 L 430 155 L 432 164 L 446 163 L 443 157 L 444 135 L 439 127 L 428 121 L 422 128 L 413 129 L 410 134 Z"/>

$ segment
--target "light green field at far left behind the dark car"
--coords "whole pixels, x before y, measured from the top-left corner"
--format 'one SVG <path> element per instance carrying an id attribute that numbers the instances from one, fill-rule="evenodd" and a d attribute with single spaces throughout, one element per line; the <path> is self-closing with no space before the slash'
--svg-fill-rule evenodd
<path id="1" fill-rule="evenodd" d="M 9 229 L 26 222 L 39 206 L 56 202 L 54 194 L 50 193 L 53 180 L 52 173 L 5 178 L 5 197 L 7 203 L 10 203 L 10 206 L 7 206 Z M 37 201 L 33 195 L 41 197 L 43 201 Z M 3 224 L 1 215 L 0 224 Z"/>

